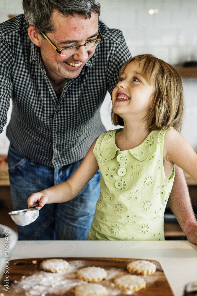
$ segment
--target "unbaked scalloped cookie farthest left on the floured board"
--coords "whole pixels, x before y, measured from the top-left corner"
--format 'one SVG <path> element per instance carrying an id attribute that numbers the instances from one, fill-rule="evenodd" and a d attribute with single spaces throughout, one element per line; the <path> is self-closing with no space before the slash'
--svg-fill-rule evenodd
<path id="1" fill-rule="evenodd" d="M 69 268 L 69 263 L 63 259 L 47 259 L 40 264 L 40 268 L 51 272 L 65 271 Z"/>

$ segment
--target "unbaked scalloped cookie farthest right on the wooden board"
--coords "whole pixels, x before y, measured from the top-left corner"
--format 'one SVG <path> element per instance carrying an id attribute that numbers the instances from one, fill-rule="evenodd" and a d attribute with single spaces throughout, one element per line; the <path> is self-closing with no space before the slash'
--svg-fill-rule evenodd
<path id="1" fill-rule="evenodd" d="M 126 266 L 131 274 L 154 274 L 156 266 L 147 260 L 136 260 Z"/>

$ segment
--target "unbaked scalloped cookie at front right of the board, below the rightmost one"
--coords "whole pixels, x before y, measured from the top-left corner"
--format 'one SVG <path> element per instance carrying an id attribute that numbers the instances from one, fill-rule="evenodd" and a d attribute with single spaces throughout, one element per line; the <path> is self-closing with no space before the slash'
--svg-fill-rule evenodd
<path id="1" fill-rule="evenodd" d="M 131 290 L 137 292 L 141 289 L 146 288 L 146 282 L 141 276 L 134 276 L 131 274 L 126 274 L 124 276 L 120 276 L 114 280 L 114 284 L 116 287 L 122 290 Z"/>

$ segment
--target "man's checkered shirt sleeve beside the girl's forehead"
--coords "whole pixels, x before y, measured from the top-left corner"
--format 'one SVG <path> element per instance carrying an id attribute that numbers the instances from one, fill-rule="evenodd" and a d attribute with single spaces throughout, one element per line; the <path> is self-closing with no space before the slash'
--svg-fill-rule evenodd
<path id="1" fill-rule="evenodd" d="M 128 46 L 126 45 L 123 33 L 120 30 L 117 31 L 119 38 L 113 45 L 113 50 L 111 50 L 108 59 L 107 80 L 110 95 L 112 95 L 112 91 L 118 83 L 118 76 L 122 66 L 132 57 Z"/>

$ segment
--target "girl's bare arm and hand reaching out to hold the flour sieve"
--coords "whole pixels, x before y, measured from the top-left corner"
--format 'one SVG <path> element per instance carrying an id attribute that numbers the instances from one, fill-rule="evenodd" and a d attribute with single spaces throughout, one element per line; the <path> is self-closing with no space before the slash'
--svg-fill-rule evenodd
<path id="1" fill-rule="evenodd" d="M 33 193 L 27 200 L 28 207 L 38 202 L 39 207 L 43 207 L 45 203 L 66 202 L 79 194 L 99 169 L 97 160 L 93 154 L 96 141 L 97 139 L 89 148 L 82 163 L 66 182 Z"/>

